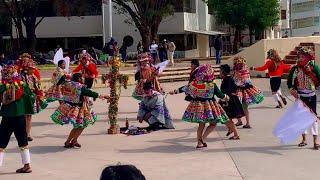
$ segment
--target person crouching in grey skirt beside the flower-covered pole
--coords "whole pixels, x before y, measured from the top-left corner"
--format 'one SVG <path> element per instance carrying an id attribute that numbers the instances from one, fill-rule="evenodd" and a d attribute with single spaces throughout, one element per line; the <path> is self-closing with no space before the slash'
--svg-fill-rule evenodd
<path id="1" fill-rule="evenodd" d="M 151 83 L 144 84 L 144 98 L 140 103 L 137 119 L 149 124 L 148 131 L 174 129 L 165 97 L 153 90 Z"/>

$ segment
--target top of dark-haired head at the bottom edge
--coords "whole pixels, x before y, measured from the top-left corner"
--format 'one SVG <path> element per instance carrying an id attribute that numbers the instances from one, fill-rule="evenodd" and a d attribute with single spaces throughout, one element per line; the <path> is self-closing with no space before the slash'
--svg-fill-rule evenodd
<path id="1" fill-rule="evenodd" d="M 100 180 L 146 180 L 139 169 L 133 165 L 117 165 L 106 167 Z"/>

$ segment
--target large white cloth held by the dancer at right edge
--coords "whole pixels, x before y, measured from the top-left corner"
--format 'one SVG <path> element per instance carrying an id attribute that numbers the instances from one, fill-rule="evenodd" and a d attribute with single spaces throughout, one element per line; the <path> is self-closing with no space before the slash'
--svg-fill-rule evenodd
<path id="1" fill-rule="evenodd" d="M 297 99 L 274 127 L 273 134 L 282 144 L 290 144 L 317 120 L 317 116 L 300 99 Z"/>

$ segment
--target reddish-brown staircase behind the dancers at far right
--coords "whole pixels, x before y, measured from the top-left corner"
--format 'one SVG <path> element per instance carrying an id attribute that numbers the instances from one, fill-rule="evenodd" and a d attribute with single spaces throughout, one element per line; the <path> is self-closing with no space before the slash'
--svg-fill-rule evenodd
<path id="1" fill-rule="evenodd" d="M 284 57 L 283 62 L 285 64 L 287 64 L 287 65 L 290 65 L 290 66 L 295 65 L 296 62 L 297 62 L 298 51 L 303 46 L 307 46 L 307 47 L 311 48 L 313 51 L 315 50 L 314 43 L 312 43 L 312 42 L 302 42 L 302 43 L 299 44 L 299 46 L 296 46 L 293 51 L 291 51 L 288 55 L 286 55 Z M 284 73 L 282 77 L 283 78 L 287 78 L 288 74 L 289 73 Z"/>

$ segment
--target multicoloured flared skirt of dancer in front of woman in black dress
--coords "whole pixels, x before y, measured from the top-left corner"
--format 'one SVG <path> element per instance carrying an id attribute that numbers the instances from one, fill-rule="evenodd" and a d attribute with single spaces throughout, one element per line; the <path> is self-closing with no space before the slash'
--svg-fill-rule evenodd
<path id="1" fill-rule="evenodd" d="M 183 121 L 192 123 L 222 123 L 225 124 L 229 118 L 223 108 L 216 101 L 206 100 L 191 101 L 182 117 Z"/>

